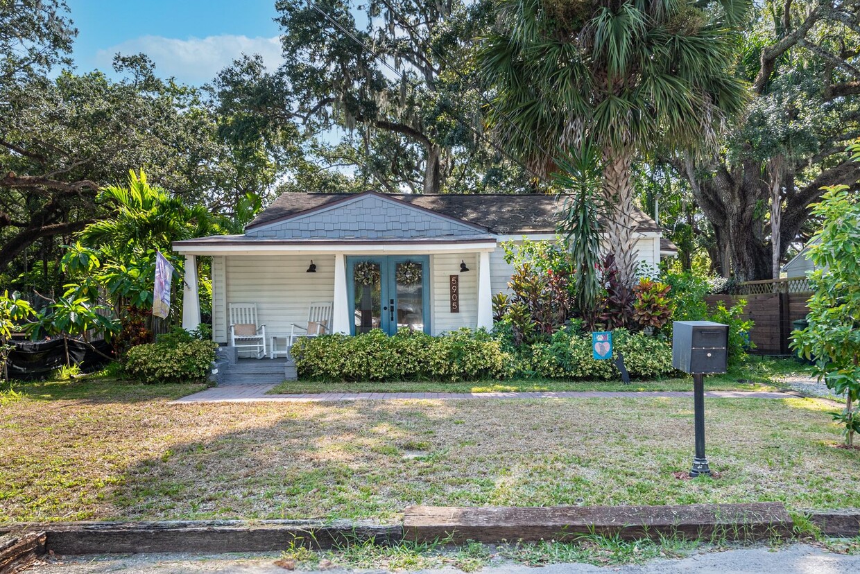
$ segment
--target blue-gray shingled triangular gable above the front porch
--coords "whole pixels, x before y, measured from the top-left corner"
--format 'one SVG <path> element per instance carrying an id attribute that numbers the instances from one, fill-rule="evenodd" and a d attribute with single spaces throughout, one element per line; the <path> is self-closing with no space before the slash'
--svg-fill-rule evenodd
<path id="1" fill-rule="evenodd" d="M 258 218 L 259 219 L 259 218 Z M 415 237 L 466 237 L 486 233 L 485 228 L 404 205 L 378 193 L 341 195 L 315 208 L 255 222 L 246 235 L 272 239 L 412 239 Z"/>

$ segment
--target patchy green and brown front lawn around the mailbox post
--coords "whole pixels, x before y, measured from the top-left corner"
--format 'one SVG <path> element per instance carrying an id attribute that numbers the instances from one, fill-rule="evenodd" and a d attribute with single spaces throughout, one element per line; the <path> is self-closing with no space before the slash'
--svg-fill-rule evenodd
<path id="1" fill-rule="evenodd" d="M 199 387 L 197 387 L 199 388 Z M 720 479 L 679 480 L 691 399 L 167 402 L 195 388 L 18 387 L 0 406 L 0 522 L 364 517 L 409 504 L 860 506 L 824 400 L 707 400 Z"/>

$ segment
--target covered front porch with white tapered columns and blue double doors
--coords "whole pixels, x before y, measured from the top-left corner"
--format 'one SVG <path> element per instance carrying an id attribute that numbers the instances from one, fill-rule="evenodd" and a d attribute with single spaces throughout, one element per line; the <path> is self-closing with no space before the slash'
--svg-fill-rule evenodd
<path id="1" fill-rule="evenodd" d="M 310 326 L 313 332 L 412 328 L 437 335 L 493 326 L 492 237 L 321 243 L 247 236 L 177 242 L 175 251 L 186 257 L 182 327 L 200 324 L 198 257 L 212 258 L 212 339 L 229 345 L 230 304 L 253 305 L 267 356 L 307 330 L 311 306 L 326 302 L 330 319 Z"/>

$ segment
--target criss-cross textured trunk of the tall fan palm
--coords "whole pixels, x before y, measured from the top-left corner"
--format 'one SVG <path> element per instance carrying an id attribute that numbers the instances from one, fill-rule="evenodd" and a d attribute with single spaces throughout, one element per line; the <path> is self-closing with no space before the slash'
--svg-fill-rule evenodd
<path id="1" fill-rule="evenodd" d="M 633 180 L 630 150 L 608 148 L 604 150 L 603 170 L 606 205 L 611 211 L 606 214 L 604 229 L 611 253 L 615 253 L 618 279 L 626 287 L 636 280 L 636 228 L 638 223 L 633 212 Z"/>

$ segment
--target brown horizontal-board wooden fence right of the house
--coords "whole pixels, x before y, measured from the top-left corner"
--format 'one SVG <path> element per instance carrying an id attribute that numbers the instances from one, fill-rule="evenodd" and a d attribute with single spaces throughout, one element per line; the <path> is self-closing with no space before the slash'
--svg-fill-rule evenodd
<path id="1" fill-rule="evenodd" d="M 792 321 L 806 319 L 807 300 L 812 291 L 805 277 L 749 281 L 738 285 L 736 295 L 709 295 L 705 302 L 714 307 L 723 302 L 731 307 L 746 299 L 744 319 L 753 321 L 750 339 L 755 343 L 754 354 L 788 355 Z"/>

